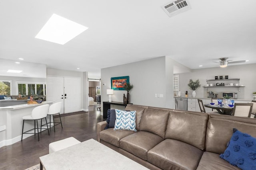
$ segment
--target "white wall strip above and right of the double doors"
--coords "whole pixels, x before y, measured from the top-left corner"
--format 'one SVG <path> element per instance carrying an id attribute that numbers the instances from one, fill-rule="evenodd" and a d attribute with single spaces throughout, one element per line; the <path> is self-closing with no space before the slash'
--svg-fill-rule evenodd
<path id="1" fill-rule="evenodd" d="M 63 77 L 78 77 L 80 78 L 80 93 L 81 103 L 80 109 L 88 111 L 88 73 L 87 72 L 77 72 L 69 70 L 58 70 L 53 68 L 47 68 L 46 76 L 63 76 Z M 47 82 L 46 82 L 47 84 Z"/>

